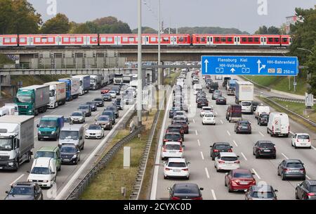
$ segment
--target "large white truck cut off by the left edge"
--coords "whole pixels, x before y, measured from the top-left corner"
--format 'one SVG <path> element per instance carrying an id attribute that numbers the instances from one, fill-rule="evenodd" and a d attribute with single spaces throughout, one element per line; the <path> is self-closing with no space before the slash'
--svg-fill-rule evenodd
<path id="1" fill-rule="evenodd" d="M 0 170 L 18 170 L 29 162 L 34 148 L 34 116 L 0 118 Z"/>

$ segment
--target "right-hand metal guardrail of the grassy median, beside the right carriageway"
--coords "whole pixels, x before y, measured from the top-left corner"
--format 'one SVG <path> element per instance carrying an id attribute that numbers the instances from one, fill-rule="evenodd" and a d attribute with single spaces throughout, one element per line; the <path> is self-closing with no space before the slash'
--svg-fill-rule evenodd
<path id="1" fill-rule="evenodd" d="M 157 121 L 159 118 L 161 111 L 157 111 L 156 115 L 154 116 L 153 126 L 150 130 L 150 137 L 148 137 L 147 143 L 145 145 L 145 149 L 143 151 L 142 158 L 140 159 L 139 168 L 136 175 L 136 180 L 133 185 L 133 189 L 131 192 L 131 196 L 129 197 L 130 200 L 138 200 L 140 195 L 140 190 L 143 187 L 143 180 L 145 176 L 145 171 L 147 168 L 147 161 L 150 153 L 150 148 L 152 146 L 152 140 L 154 139 L 154 132 L 156 131 Z"/>

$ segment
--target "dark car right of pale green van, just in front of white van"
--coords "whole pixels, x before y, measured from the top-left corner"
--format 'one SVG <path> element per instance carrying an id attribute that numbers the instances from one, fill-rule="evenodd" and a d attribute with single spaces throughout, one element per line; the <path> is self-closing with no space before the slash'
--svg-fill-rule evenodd
<path id="1" fill-rule="evenodd" d="M 74 144 L 62 144 L 60 147 L 62 163 L 77 164 L 80 161 L 80 149 Z"/>

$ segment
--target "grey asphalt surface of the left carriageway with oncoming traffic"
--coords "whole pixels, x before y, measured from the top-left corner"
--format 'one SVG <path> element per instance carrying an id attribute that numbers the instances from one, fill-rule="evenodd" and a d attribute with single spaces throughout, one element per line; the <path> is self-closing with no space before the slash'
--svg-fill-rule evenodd
<path id="1" fill-rule="evenodd" d="M 111 85 L 108 85 L 107 87 L 111 87 Z M 122 87 L 121 92 L 124 91 L 125 87 Z M 39 150 L 42 146 L 57 146 L 58 141 L 38 141 L 37 140 L 37 124 L 39 124 L 39 120 L 44 115 L 64 115 L 65 117 L 69 117 L 70 114 L 73 111 L 76 111 L 78 106 L 80 104 L 86 103 L 87 101 L 92 101 L 93 99 L 100 98 L 100 90 L 97 91 L 90 91 L 88 94 L 84 96 L 79 96 L 78 99 L 75 99 L 73 101 L 67 102 L 64 106 L 59 106 L 55 109 L 49 109 L 46 113 L 39 114 L 34 118 L 34 149 L 32 150 L 33 153 L 36 153 L 37 150 Z M 119 97 L 119 96 L 118 96 Z M 114 101 L 114 99 L 113 99 Z M 88 127 L 90 124 L 94 124 L 95 118 L 98 117 L 102 113 L 102 111 L 106 108 L 106 106 L 112 105 L 112 102 L 105 102 L 105 107 L 98 107 L 98 111 L 93 112 L 91 117 L 86 118 L 86 122 L 84 124 L 84 127 Z M 114 129 L 117 129 L 117 127 L 120 125 L 119 121 L 124 117 L 124 115 L 127 115 L 126 113 L 131 109 L 131 106 L 124 106 L 124 111 L 119 111 L 119 120 L 117 120 L 116 125 L 113 127 Z M 126 116 L 125 116 L 126 118 Z M 124 118 L 124 119 L 125 119 Z M 121 122 L 120 122 L 121 123 Z M 105 131 L 105 137 L 107 137 L 107 134 L 109 134 L 110 131 Z M 114 132 L 114 131 L 112 131 Z M 103 139 L 105 139 L 105 137 Z M 96 150 L 96 148 L 100 145 L 100 143 L 103 141 L 103 139 L 85 139 L 84 144 L 84 150 L 81 151 L 81 160 L 79 161 L 78 165 L 62 165 L 62 169 L 57 174 L 57 180 L 56 185 L 54 185 L 51 189 L 44 189 L 44 199 L 55 199 L 58 196 L 58 199 L 63 199 L 62 197 L 65 196 L 64 194 L 60 195 L 60 191 L 62 193 L 67 193 L 67 188 L 70 187 L 72 182 L 77 182 L 77 178 L 75 175 L 78 175 L 79 172 L 85 172 L 82 171 L 86 168 L 91 168 L 93 165 L 93 158 L 96 158 L 95 156 L 91 157 L 91 153 Z M 91 160 L 91 161 L 88 161 Z M 88 163 L 86 163 L 88 161 Z M 0 183 L 0 199 L 4 199 L 6 196 L 5 191 L 10 189 L 10 185 L 18 182 L 18 181 L 26 181 L 28 177 L 28 170 L 31 170 L 33 163 L 33 159 L 30 163 L 23 163 L 20 165 L 20 168 L 18 172 L 12 172 L 12 171 L 1 171 L 1 183 Z M 83 168 L 81 168 L 84 166 Z M 81 173 L 79 173 L 80 175 Z M 75 178 L 75 179 L 74 179 Z"/>

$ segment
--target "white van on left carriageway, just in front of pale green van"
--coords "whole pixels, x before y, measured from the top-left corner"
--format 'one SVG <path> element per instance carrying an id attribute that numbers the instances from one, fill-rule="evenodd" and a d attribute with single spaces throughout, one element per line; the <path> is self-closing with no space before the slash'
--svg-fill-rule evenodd
<path id="1" fill-rule="evenodd" d="M 56 182 L 57 168 L 53 158 L 34 159 L 28 182 L 36 182 L 40 187 L 52 187 Z"/>

